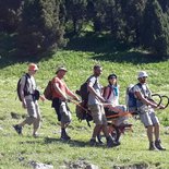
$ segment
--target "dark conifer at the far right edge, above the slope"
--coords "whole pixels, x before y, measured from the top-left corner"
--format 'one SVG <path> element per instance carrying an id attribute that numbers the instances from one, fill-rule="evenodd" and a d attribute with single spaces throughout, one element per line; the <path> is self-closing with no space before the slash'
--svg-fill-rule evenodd
<path id="1" fill-rule="evenodd" d="M 169 55 L 169 15 L 165 13 L 157 0 L 147 2 L 143 29 L 142 43 L 159 56 Z"/>

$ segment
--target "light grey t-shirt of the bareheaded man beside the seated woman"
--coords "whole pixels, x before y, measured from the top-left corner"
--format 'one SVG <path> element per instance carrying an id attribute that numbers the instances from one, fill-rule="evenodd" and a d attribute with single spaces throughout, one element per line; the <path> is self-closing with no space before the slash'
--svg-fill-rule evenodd
<path id="1" fill-rule="evenodd" d="M 99 84 L 99 81 L 98 81 L 98 77 L 96 76 L 92 76 L 89 80 L 88 80 L 88 83 L 93 83 L 93 87 L 95 89 L 95 92 L 101 96 L 101 85 Z M 99 104 L 100 101 L 98 100 L 98 98 L 93 95 L 93 94 L 88 94 L 88 105 L 96 105 L 96 104 Z"/>

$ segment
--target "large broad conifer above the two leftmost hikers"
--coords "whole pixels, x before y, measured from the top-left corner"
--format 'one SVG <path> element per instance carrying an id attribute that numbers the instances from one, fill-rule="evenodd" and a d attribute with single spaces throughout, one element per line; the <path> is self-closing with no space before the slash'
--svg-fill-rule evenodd
<path id="1" fill-rule="evenodd" d="M 23 55 L 36 55 L 62 45 L 59 0 L 26 0 L 22 9 L 17 45 Z"/>

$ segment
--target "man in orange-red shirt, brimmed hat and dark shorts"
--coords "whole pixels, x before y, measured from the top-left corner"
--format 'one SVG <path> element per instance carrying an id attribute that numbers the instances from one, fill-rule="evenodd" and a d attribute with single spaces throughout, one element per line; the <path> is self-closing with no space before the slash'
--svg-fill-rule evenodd
<path id="1" fill-rule="evenodd" d="M 53 85 L 52 107 L 55 108 L 58 116 L 58 121 L 61 122 L 60 138 L 62 141 L 69 141 L 71 138 L 65 131 L 72 119 L 67 101 L 69 100 L 69 97 L 72 97 L 75 100 L 80 100 L 79 97 L 68 88 L 65 82 L 63 81 L 67 72 L 68 71 L 64 67 L 59 67 L 56 72 L 57 75 L 51 81 Z"/>

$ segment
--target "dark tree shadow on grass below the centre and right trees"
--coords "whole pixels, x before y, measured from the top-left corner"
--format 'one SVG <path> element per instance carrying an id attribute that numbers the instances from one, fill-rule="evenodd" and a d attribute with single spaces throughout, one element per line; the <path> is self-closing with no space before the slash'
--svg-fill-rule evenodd
<path id="1" fill-rule="evenodd" d="M 162 60 L 162 58 L 145 51 L 143 52 L 143 50 L 131 50 L 129 45 L 114 41 L 110 35 L 97 35 L 93 33 L 81 37 L 71 37 L 65 49 L 95 52 L 93 59 L 100 61 L 142 64 Z"/>

